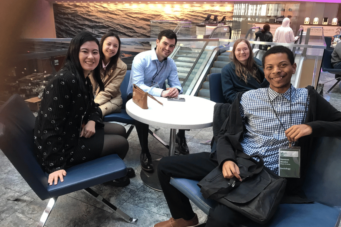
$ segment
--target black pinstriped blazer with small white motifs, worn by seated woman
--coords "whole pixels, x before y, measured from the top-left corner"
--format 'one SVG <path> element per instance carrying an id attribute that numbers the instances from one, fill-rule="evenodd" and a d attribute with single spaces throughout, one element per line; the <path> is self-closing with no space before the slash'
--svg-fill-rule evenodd
<path id="1" fill-rule="evenodd" d="M 47 173 L 65 169 L 78 145 L 82 122 L 93 120 L 103 127 L 95 107 L 90 79 L 76 77 L 62 68 L 46 85 L 41 108 L 35 120 L 34 143 L 38 160 Z"/>

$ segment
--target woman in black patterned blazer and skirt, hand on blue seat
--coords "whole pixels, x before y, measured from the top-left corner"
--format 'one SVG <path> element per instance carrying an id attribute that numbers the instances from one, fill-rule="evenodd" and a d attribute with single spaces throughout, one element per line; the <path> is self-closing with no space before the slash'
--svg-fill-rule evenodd
<path id="1" fill-rule="evenodd" d="M 64 66 L 46 85 L 41 108 L 35 120 L 34 143 L 42 167 L 49 173 L 48 183 L 63 181 L 72 165 L 117 153 L 123 159 L 129 144 L 125 128 L 103 123 L 93 101 L 93 75 L 101 90 L 100 44 L 89 32 L 76 35 L 66 53 Z M 134 171 L 133 169 L 131 169 Z M 132 172 L 130 170 L 130 172 Z M 130 173 L 131 175 L 131 173 Z M 128 177 L 114 180 L 125 186 Z"/>

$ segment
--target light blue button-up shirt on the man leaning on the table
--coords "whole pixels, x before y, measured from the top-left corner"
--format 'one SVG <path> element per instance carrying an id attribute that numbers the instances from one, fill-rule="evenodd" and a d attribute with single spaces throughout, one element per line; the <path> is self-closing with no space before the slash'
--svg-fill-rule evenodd
<path id="1" fill-rule="evenodd" d="M 176 87 L 180 90 L 179 94 L 182 93 L 178 71 L 173 59 L 167 58 L 160 62 L 155 49 L 139 53 L 133 60 L 127 95 L 133 94 L 133 84 L 136 84 L 143 91 L 160 97 L 163 91 L 161 87 L 166 79 L 169 87 Z M 158 83 L 160 88 L 152 87 L 155 83 Z"/>

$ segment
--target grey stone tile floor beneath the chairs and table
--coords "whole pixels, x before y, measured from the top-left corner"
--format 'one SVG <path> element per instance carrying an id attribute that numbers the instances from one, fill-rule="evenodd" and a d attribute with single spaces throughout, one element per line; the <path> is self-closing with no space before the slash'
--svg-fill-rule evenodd
<path id="1" fill-rule="evenodd" d="M 322 82 L 333 78 L 334 75 L 321 72 L 320 80 Z M 333 83 L 335 81 L 326 83 L 324 85 L 324 92 Z M 333 88 L 329 94 L 324 94 L 324 97 L 341 111 L 341 92 L 339 85 Z M 169 129 L 161 128 L 155 133 L 165 142 L 169 142 Z M 186 137 L 191 153 L 210 151 L 209 145 L 200 143 L 211 139 L 212 128 L 186 131 Z M 140 179 L 140 145 L 135 130 L 129 136 L 129 145 L 128 155 L 124 161 L 127 166 L 133 167 L 137 173 L 131 179 L 131 183 L 124 188 L 115 188 L 103 184 L 96 185 L 92 188 L 128 215 L 138 218 L 136 226 L 150 227 L 160 221 L 168 220 L 171 215 L 163 194 L 146 187 Z M 153 159 L 168 155 L 168 150 L 152 136 L 149 136 L 149 149 Z M 0 226 L 36 226 L 47 205 L 47 200 L 42 201 L 33 192 L 21 197 L 17 201 L 6 200 L 6 197 L 10 195 L 18 195 L 29 190 L 29 186 L 2 152 L 0 152 L 0 163 Z M 195 205 L 193 205 L 193 208 L 198 214 L 199 222 L 204 222 L 206 215 Z M 58 198 L 55 208 L 52 210 L 45 226 L 134 227 L 135 225 L 123 221 L 117 214 L 102 206 L 100 202 L 91 198 L 86 192 L 77 191 Z"/>

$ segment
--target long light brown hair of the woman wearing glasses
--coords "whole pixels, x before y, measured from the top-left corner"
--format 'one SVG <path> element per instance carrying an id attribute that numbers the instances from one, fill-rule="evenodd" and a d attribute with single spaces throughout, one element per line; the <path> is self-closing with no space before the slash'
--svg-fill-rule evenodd
<path id="1" fill-rule="evenodd" d="M 243 64 L 241 64 L 237 58 L 236 58 L 236 54 L 235 54 L 235 50 L 236 47 L 239 43 L 246 43 L 246 45 L 248 45 L 249 48 L 249 59 L 247 62 L 247 65 L 244 66 Z M 248 40 L 244 39 L 244 38 L 240 38 L 237 39 L 236 42 L 233 45 L 233 49 L 232 52 L 230 54 L 230 59 L 232 60 L 232 62 L 235 64 L 236 66 L 236 74 L 237 76 L 242 79 L 243 81 L 245 81 L 245 83 L 248 83 L 248 74 L 250 74 L 253 78 L 255 78 L 259 83 L 261 83 L 261 81 L 259 81 L 256 77 L 256 72 L 257 72 L 257 66 L 255 61 L 253 60 L 253 52 L 252 52 L 252 48 L 251 45 L 249 43 Z"/>

